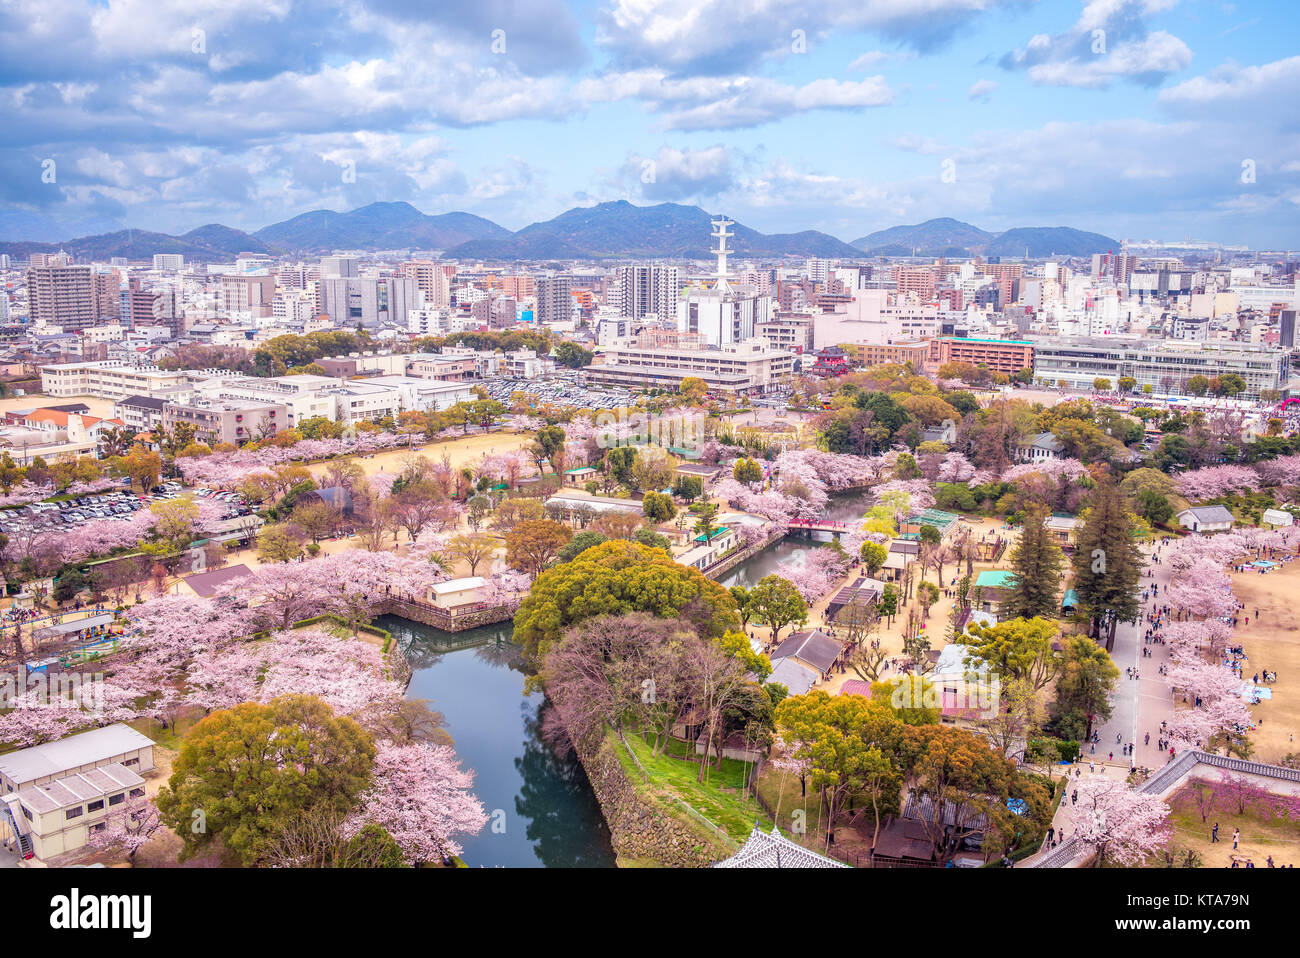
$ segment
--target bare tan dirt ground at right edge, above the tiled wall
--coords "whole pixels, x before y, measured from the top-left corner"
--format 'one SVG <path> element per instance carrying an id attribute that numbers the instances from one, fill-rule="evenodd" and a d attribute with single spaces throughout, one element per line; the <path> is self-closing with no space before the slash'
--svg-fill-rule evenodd
<path id="1" fill-rule="evenodd" d="M 1300 564 L 1288 563 L 1279 571 L 1228 573 L 1232 591 L 1245 603 L 1236 638 L 1245 650 L 1244 673 L 1269 669 L 1278 681 L 1269 688 L 1273 698 L 1252 710 L 1257 723 L 1251 734 L 1254 758 L 1277 762 L 1300 751 Z M 1244 617 L 1251 617 L 1247 625 Z"/>

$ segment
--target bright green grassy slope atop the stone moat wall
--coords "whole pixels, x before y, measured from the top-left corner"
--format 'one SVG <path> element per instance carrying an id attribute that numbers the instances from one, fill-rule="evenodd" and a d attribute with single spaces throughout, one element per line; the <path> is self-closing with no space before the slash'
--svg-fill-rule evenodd
<path id="1" fill-rule="evenodd" d="M 650 775 L 650 788 L 659 798 L 670 805 L 673 799 L 685 802 L 733 841 L 745 841 L 754 831 L 755 822 L 763 822 L 764 827 L 771 824 L 758 802 L 742 792 L 745 775 L 751 766 L 724 758 L 720 772 L 710 768 L 705 781 L 696 781 L 699 775 L 697 762 L 666 754 L 653 755 L 650 745 L 637 736 L 628 736 L 627 742 Z M 679 742 L 677 746 L 677 751 L 684 754 L 684 744 Z M 624 767 L 634 783 L 644 781 L 633 762 L 625 762 Z"/>

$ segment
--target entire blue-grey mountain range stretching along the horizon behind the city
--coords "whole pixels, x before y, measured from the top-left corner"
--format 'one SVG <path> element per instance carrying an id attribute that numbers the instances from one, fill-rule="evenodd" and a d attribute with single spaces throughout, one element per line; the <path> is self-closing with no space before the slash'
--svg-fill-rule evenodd
<path id="1" fill-rule="evenodd" d="M 153 253 L 182 253 L 191 261 L 229 260 L 240 252 L 321 253 L 334 250 L 442 250 L 454 259 L 708 259 L 712 214 L 699 207 L 660 203 L 636 207 L 627 200 L 576 207 L 512 233 L 472 213 L 421 213 L 410 203 L 372 203 L 346 213 L 316 209 L 255 233 L 209 224 L 173 237 L 146 230 L 116 230 L 61 243 L 0 242 L 0 252 L 25 257 L 66 250 L 77 259 L 107 260 Z M 816 230 L 759 233 L 732 227 L 731 248 L 741 256 L 1086 256 L 1119 243 L 1097 233 L 1065 226 L 1020 227 L 987 233 L 958 220 L 930 220 L 893 226 L 853 243 Z M 30 234 L 29 234 L 30 235 Z"/>

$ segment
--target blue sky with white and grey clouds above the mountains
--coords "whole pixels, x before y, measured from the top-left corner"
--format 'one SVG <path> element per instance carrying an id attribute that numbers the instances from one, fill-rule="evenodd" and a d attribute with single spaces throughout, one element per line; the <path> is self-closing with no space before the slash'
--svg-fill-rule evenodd
<path id="1" fill-rule="evenodd" d="M 1294 0 L 0 0 L 0 238 L 628 199 L 1300 248 L 1297 38 Z"/>

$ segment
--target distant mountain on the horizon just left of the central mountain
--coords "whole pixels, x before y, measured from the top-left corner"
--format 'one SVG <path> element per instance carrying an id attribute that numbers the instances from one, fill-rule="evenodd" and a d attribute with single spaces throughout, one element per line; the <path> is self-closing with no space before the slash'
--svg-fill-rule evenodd
<path id="1" fill-rule="evenodd" d="M 347 213 L 316 209 L 264 226 L 257 239 L 283 252 L 332 250 L 447 250 L 511 233 L 473 213 L 429 216 L 410 203 L 372 203 Z"/>

